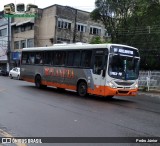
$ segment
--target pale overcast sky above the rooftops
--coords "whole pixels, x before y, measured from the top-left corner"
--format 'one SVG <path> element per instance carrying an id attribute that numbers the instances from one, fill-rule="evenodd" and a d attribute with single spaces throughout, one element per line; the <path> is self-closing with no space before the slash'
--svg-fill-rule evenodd
<path id="1" fill-rule="evenodd" d="M 80 10 L 91 12 L 95 8 L 95 0 L 1 0 L 0 11 L 3 10 L 5 4 L 9 3 L 24 3 L 36 4 L 39 8 L 45 8 L 50 5 L 59 4 L 64 6 L 75 7 Z"/>

